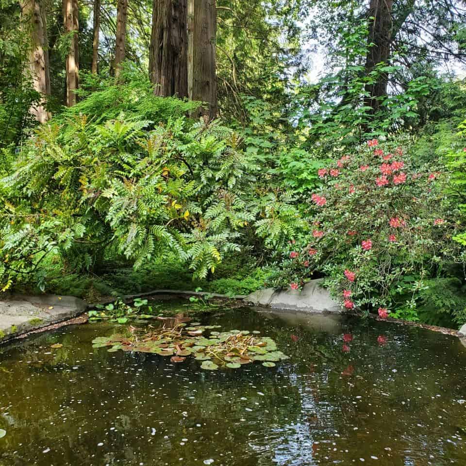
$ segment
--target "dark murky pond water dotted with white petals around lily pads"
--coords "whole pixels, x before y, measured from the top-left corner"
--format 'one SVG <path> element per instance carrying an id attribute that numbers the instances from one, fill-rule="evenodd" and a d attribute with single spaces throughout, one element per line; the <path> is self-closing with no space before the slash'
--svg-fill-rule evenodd
<path id="1" fill-rule="evenodd" d="M 260 330 L 291 358 L 210 372 L 92 349 L 109 324 L 34 336 L 1 349 L 0 465 L 466 465 L 456 338 L 251 310 L 202 323 Z"/>

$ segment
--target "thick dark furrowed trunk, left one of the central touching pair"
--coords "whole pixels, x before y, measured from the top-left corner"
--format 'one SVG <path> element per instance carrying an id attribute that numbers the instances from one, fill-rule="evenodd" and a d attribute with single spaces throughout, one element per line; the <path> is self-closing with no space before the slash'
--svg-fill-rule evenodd
<path id="1" fill-rule="evenodd" d="M 149 75 L 155 95 L 188 96 L 187 0 L 153 0 Z"/>

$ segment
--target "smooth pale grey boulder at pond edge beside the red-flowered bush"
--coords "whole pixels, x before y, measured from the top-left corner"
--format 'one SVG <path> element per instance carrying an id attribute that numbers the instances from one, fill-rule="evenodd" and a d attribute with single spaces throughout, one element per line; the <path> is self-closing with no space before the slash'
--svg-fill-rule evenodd
<path id="1" fill-rule="evenodd" d="M 289 309 L 305 312 L 339 313 L 340 304 L 330 297 L 330 293 L 320 286 L 321 279 L 311 280 L 299 290 L 274 290 L 266 288 L 255 291 L 244 301 L 256 306 L 271 307 L 273 309 Z"/>

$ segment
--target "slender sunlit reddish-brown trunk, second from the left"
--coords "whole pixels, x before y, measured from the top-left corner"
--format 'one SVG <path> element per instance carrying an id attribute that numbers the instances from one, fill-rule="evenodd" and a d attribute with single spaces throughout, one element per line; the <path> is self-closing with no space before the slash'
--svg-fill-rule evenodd
<path id="1" fill-rule="evenodd" d="M 78 0 L 63 0 L 63 26 L 64 31 L 70 34 L 70 46 L 68 50 L 66 68 L 67 68 L 67 92 L 66 104 L 72 107 L 76 104 L 75 91 L 78 89 L 79 80 L 79 49 L 78 49 L 78 32 L 79 32 L 79 9 Z"/>

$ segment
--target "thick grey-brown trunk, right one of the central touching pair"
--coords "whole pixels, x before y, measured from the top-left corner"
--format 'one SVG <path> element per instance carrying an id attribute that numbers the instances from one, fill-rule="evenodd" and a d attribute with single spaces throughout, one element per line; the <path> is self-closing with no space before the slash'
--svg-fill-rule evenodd
<path id="1" fill-rule="evenodd" d="M 215 0 L 188 0 L 188 95 L 208 103 L 196 115 L 209 119 L 217 114 L 216 16 Z"/>

